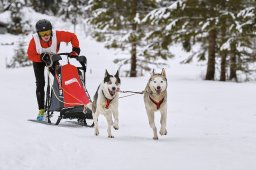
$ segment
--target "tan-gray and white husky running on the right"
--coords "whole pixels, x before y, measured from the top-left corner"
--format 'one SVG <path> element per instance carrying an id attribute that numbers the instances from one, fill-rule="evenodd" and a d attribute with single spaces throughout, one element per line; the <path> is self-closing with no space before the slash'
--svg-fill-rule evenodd
<path id="1" fill-rule="evenodd" d="M 167 79 L 164 69 L 162 69 L 161 74 L 156 74 L 153 70 L 144 91 L 144 104 L 148 115 L 149 125 L 153 129 L 153 139 L 158 139 L 154 120 L 154 114 L 158 110 L 161 113 L 161 128 L 159 133 L 160 135 L 167 135 Z"/>

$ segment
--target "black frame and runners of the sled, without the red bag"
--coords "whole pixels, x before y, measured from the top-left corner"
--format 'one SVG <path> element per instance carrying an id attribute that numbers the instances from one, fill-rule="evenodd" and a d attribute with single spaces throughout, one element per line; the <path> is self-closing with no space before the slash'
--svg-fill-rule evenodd
<path id="1" fill-rule="evenodd" d="M 57 74 L 58 78 L 61 81 L 61 65 L 58 61 L 61 60 L 61 55 L 67 56 L 67 61 L 69 63 L 69 53 L 59 53 L 52 56 L 51 68 L 54 69 L 54 74 Z M 81 67 L 77 67 L 77 71 L 81 82 L 84 86 L 87 96 L 91 102 L 91 98 L 89 96 L 88 91 L 86 90 L 86 67 L 87 67 L 87 58 L 85 56 L 78 56 L 76 58 L 78 62 L 81 64 Z M 54 68 L 55 67 L 55 68 Z M 57 70 L 56 70 L 57 69 Z M 56 76 L 56 75 L 55 75 Z M 60 100 L 62 99 L 62 100 Z M 55 106 L 54 106 L 55 105 Z M 56 106 L 57 105 L 57 106 Z M 75 107 L 64 107 L 63 103 L 63 92 L 61 92 L 59 88 L 59 83 L 57 82 L 56 78 L 54 77 L 53 87 L 51 88 L 50 85 L 50 75 L 48 74 L 47 77 L 47 90 L 46 90 L 46 99 L 45 99 L 45 110 L 46 110 L 46 121 L 51 124 L 51 117 L 53 116 L 54 112 L 59 112 L 60 115 L 55 123 L 58 125 L 62 119 L 77 119 L 78 124 L 87 127 L 93 127 L 94 122 L 91 125 L 87 124 L 87 119 L 93 119 L 92 111 L 88 108 L 84 111 L 84 106 L 75 106 Z"/>

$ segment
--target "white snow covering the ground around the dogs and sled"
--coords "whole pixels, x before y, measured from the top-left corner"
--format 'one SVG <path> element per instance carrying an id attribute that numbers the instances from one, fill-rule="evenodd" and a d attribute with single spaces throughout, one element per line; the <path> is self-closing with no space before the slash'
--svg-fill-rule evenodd
<path id="1" fill-rule="evenodd" d="M 63 29 L 69 29 L 67 25 L 63 23 Z M 105 69 L 115 73 L 117 66 L 112 61 L 123 54 L 104 49 L 103 44 L 85 37 L 81 30 L 77 32 L 82 54 L 88 58 L 87 88 L 93 96 Z M 17 43 L 18 38 L 0 34 L 0 44 Z M 65 44 L 61 47 L 62 52 L 71 49 Z M 5 68 L 6 57 L 12 57 L 14 48 L 15 45 L 0 45 L 1 170 L 256 168 L 255 82 L 203 81 L 205 68 L 180 65 L 184 52 L 173 47 L 176 59 L 169 60 L 166 68 L 168 135 L 152 140 L 143 96 L 134 95 L 120 99 L 120 129 L 113 130 L 115 138 L 109 139 L 103 116 L 99 117 L 97 137 L 94 129 L 75 125 L 75 120 L 63 120 L 59 126 L 29 122 L 38 112 L 33 68 Z M 121 89 L 142 91 L 148 78 L 149 75 L 122 77 Z M 157 113 L 158 130 L 159 119 Z"/>

